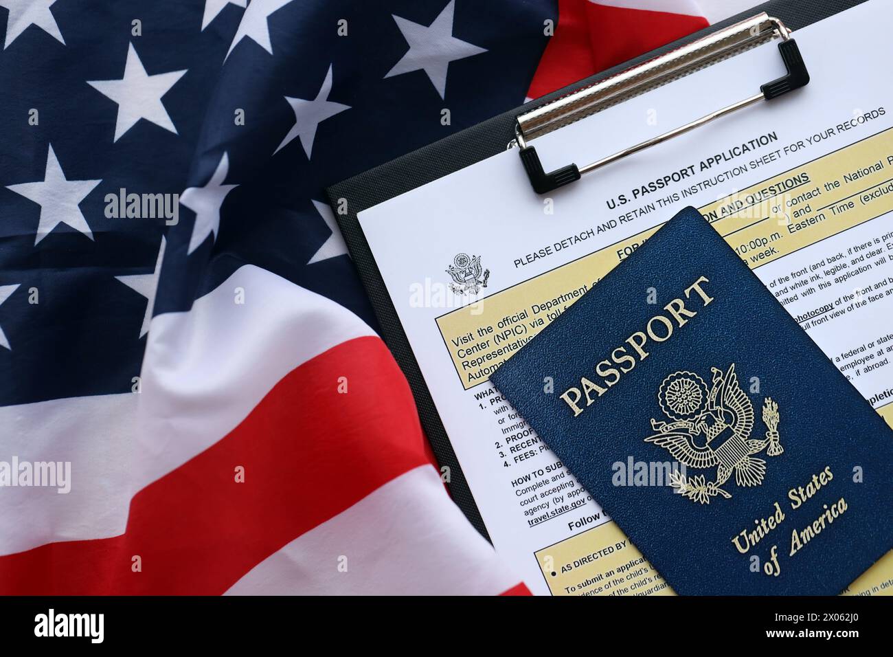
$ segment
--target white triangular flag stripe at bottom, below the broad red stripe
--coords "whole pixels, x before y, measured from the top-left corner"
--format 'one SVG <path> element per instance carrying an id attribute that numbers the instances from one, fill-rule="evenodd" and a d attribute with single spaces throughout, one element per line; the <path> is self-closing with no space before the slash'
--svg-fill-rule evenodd
<path id="1" fill-rule="evenodd" d="M 494 595 L 518 583 L 437 471 L 421 466 L 300 535 L 226 594 Z"/>

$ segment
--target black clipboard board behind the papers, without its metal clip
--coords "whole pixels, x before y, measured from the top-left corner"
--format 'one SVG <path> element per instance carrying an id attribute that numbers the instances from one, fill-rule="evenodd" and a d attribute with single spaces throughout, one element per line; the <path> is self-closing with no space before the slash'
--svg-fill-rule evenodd
<path id="1" fill-rule="evenodd" d="M 376 265 L 369 243 L 363 235 L 357 214 L 504 151 L 506 145 L 516 139 L 519 115 L 530 113 L 543 105 L 549 105 L 559 98 L 567 97 L 572 92 L 591 87 L 597 82 L 612 78 L 633 66 L 653 60 L 655 57 L 677 51 L 698 39 L 729 28 L 757 13 L 771 14 L 789 29 L 797 30 L 864 2 L 866 0 L 771 0 L 758 4 L 747 12 L 739 13 L 688 37 L 657 48 L 645 55 L 640 55 L 629 62 L 575 82 L 545 97 L 531 101 L 527 105 L 504 114 L 498 114 L 485 122 L 456 132 L 387 164 L 381 164 L 365 173 L 348 178 L 346 181 L 338 182 L 326 190 L 330 204 L 335 211 L 338 226 L 344 235 L 347 248 L 350 250 L 350 255 L 354 259 L 357 271 L 363 281 L 363 287 L 371 299 L 375 315 L 379 320 L 382 338 L 394 354 L 397 365 L 403 370 L 410 384 L 415 405 L 419 410 L 421 425 L 428 435 L 439 465 L 449 468 L 448 487 L 453 500 L 472 525 L 488 540 L 487 527 L 480 517 L 480 511 L 474 501 L 472 491 L 465 480 L 462 467 L 459 466 L 458 459 L 456 459 L 455 451 L 453 451 L 453 445 L 438 415 L 434 400 L 431 399 L 413 350 L 406 339 L 403 326 L 400 324 L 396 309 L 381 278 L 379 267 Z M 571 166 L 575 167 L 575 165 Z M 563 167 L 563 169 L 565 168 L 567 167 Z M 528 173 L 532 181 L 533 174 L 530 173 L 530 169 L 528 169 Z M 579 177 L 578 173 L 576 178 Z M 570 181 L 560 180 L 559 184 L 566 184 Z M 585 184 L 585 182 L 580 184 Z M 339 208 L 342 213 L 346 214 L 340 214 Z"/>

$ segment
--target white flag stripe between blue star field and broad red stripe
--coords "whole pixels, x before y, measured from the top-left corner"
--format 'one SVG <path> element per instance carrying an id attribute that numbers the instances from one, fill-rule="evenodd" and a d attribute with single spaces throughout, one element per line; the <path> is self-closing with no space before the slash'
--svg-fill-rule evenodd
<path id="1" fill-rule="evenodd" d="M 374 334 L 334 301 L 245 265 L 188 312 L 154 317 L 139 394 L 0 407 L 0 460 L 71 462 L 70 493 L 0 488 L 0 554 L 121 535 L 134 493 L 228 434 L 297 366 Z"/>

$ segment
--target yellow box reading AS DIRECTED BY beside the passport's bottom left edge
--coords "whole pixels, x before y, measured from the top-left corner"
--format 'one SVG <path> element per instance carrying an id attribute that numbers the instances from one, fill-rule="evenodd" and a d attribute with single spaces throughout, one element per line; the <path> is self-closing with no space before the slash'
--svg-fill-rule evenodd
<path id="1" fill-rule="evenodd" d="M 612 521 L 536 556 L 553 595 L 675 595 Z"/>

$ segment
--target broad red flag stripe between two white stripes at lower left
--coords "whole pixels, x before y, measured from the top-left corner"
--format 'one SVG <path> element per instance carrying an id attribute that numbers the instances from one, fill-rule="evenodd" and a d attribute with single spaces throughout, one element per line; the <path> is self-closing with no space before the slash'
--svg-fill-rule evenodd
<path id="1" fill-rule="evenodd" d="M 428 462 L 412 395 L 384 343 L 346 341 L 137 493 L 124 535 L 0 557 L 0 593 L 222 594 L 298 535 Z M 245 483 L 235 481 L 237 466 Z M 131 570 L 137 555 L 141 572 Z"/>

